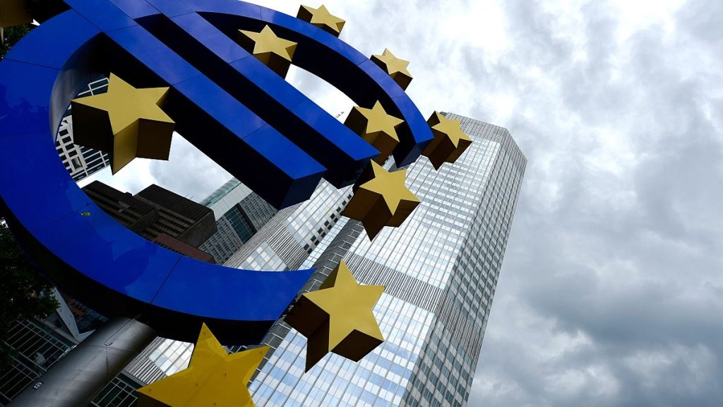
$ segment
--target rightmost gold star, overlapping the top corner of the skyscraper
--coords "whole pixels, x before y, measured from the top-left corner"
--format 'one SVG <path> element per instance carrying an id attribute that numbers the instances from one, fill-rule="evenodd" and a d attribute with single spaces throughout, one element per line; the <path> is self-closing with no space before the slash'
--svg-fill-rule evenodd
<path id="1" fill-rule="evenodd" d="M 461 121 L 448 119 L 440 112 L 434 112 L 427 120 L 435 135 L 422 155 L 427 156 L 435 169 L 440 169 L 445 162 L 454 163 L 472 143 L 469 135 L 462 131 Z"/>

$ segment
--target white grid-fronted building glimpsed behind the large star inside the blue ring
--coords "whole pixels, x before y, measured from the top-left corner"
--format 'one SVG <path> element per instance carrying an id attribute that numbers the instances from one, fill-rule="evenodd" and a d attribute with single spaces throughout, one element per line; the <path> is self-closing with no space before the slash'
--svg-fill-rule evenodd
<path id="1" fill-rule="evenodd" d="M 98 95 L 106 93 L 106 91 L 108 91 L 108 79 L 103 77 L 89 83 L 87 89 L 82 91 L 78 97 Z M 55 147 L 65 169 L 77 182 L 93 175 L 100 169 L 108 167 L 111 161 L 108 158 L 108 153 L 104 151 L 78 146 L 73 143 L 73 117 L 71 113 L 68 112 L 68 115 L 61 121 Z"/>

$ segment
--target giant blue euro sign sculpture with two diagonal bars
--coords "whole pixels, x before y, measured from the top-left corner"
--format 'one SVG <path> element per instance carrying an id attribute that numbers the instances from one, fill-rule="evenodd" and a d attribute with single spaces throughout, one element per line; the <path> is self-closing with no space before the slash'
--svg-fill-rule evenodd
<path id="1" fill-rule="evenodd" d="M 202 321 L 223 343 L 258 343 L 313 270 L 207 264 L 125 229 L 77 187 L 54 137 L 98 73 L 171 88 L 176 130 L 279 208 L 323 177 L 354 182 L 378 151 L 231 40 L 270 25 L 299 45 L 294 64 L 359 106 L 405 120 L 393 155 L 409 164 L 432 140 L 406 93 L 379 67 L 307 22 L 234 0 L 65 0 L 0 62 L 1 209 L 33 260 L 65 291 L 108 315 L 138 316 L 192 340 Z M 182 176 L 182 175 L 179 175 Z M 81 214 L 90 214 L 82 216 Z"/>

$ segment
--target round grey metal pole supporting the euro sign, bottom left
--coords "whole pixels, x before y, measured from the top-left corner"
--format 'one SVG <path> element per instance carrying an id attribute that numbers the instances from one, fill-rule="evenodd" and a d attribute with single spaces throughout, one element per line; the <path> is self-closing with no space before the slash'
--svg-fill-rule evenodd
<path id="1" fill-rule="evenodd" d="M 155 338 L 153 328 L 116 317 L 28 386 L 10 407 L 84 407 Z"/>

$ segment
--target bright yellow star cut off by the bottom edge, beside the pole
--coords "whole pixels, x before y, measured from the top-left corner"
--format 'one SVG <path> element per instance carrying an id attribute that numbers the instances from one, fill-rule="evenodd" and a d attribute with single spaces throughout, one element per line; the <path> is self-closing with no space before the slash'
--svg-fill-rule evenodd
<path id="1" fill-rule="evenodd" d="M 188 368 L 138 389 L 138 407 L 253 407 L 246 386 L 267 351 L 229 355 L 203 324 Z"/>

